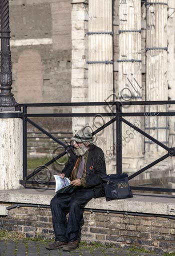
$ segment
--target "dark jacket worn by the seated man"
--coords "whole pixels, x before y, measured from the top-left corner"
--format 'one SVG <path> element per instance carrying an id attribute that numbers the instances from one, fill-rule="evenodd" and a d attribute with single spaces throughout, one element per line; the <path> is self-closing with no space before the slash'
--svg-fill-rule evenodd
<path id="1" fill-rule="evenodd" d="M 101 176 L 106 174 L 104 153 L 102 149 L 94 144 L 89 145 L 89 152 L 86 163 L 86 188 L 92 188 L 95 192 L 95 198 L 104 196 Z M 70 177 L 72 169 L 78 156 L 71 150 L 68 162 L 65 164 L 61 173 L 65 177 Z"/>

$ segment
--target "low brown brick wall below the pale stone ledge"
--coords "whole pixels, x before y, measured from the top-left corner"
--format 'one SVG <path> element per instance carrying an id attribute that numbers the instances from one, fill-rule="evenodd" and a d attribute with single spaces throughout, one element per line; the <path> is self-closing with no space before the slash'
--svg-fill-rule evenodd
<path id="1" fill-rule="evenodd" d="M 89 211 L 84 211 L 83 216 L 81 241 L 144 247 L 155 252 L 175 250 L 174 219 Z M 5 229 L 22 232 L 26 237 L 54 238 L 49 208 L 16 207 L 2 220 Z"/>

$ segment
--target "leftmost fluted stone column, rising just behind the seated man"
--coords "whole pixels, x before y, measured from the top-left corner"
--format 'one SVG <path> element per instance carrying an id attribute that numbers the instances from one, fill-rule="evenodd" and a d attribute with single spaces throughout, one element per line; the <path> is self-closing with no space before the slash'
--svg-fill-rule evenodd
<path id="1" fill-rule="evenodd" d="M 88 23 L 88 100 L 104 101 L 113 92 L 112 62 L 112 0 L 89 0 Z M 108 107 L 91 107 L 91 111 L 99 113 L 110 111 Z M 96 117 L 92 129 L 102 125 L 109 117 Z M 96 124 L 96 125 L 94 125 Z M 107 171 L 115 172 L 112 167 L 113 146 L 112 125 L 97 134 L 96 144 L 105 154 Z M 108 159 L 108 155 L 109 159 Z"/>

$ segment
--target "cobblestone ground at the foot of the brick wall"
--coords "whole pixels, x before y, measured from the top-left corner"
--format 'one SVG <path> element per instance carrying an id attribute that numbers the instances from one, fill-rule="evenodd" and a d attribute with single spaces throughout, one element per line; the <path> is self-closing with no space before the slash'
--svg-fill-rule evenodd
<path id="1" fill-rule="evenodd" d="M 160 256 L 161 253 L 146 253 L 128 249 L 83 246 L 71 252 L 61 249 L 47 250 L 39 241 L 0 240 L 0 256 Z"/>

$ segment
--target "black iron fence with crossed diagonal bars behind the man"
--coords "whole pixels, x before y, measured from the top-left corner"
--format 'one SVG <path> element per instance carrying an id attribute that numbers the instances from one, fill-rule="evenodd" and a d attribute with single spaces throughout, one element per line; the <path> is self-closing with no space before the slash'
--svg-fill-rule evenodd
<path id="1" fill-rule="evenodd" d="M 112 109 L 111 112 L 98 112 L 98 113 L 28 113 L 28 107 L 75 107 L 75 106 L 106 106 L 106 104 Z M 171 101 L 115 101 L 115 102 L 77 102 L 77 103 L 31 103 L 31 104 L 20 104 L 22 107 L 22 114 L 21 118 L 23 120 L 23 179 L 20 180 L 20 183 L 27 187 L 27 184 L 37 184 L 37 180 L 29 180 L 31 177 L 34 177 L 38 172 L 49 166 L 51 163 L 62 157 L 63 155 L 67 154 L 71 150 L 71 146 L 67 143 L 62 142 L 59 138 L 55 137 L 53 134 L 39 126 L 30 117 L 94 117 L 94 116 L 108 116 L 112 117 L 108 122 L 104 123 L 102 126 L 97 128 L 96 130 L 92 131 L 92 135 L 95 135 L 108 125 L 116 122 L 116 173 L 122 173 L 122 122 L 127 124 L 128 126 L 132 127 L 134 130 L 138 131 L 148 139 L 150 139 L 153 143 L 156 143 L 160 147 L 164 148 L 167 152 L 163 156 L 159 157 L 158 159 L 154 160 L 153 162 L 147 164 L 146 166 L 142 167 L 135 173 L 129 176 L 129 180 L 133 177 L 139 175 L 140 173 L 144 172 L 145 170 L 149 169 L 153 165 L 159 163 L 160 161 L 164 160 L 167 157 L 175 156 L 175 147 L 168 147 L 164 143 L 160 142 L 156 138 L 150 136 L 147 132 L 140 129 L 139 127 L 135 126 L 133 123 L 126 120 L 125 116 L 175 116 L 175 111 L 165 111 L 165 112 L 122 112 L 122 107 L 125 105 L 143 105 L 144 108 L 146 105 L 163 105 L 163 104 L 175 104 L 174 100 Z M 43 164 L 43 166 L 39 166 L 36 168 L 32 173 L 27 175 L 27 123 L 30 123 L 35 128 L 37 128 L 40 132 L 43 132 L 49 138 L 53 139 L 56 143 L 61 145 L 64 150 L 60 154 L 54 156 L 51 160 Z M 47 181 L 47 185 L 54 185 L 55 182 Z M 131 186 L 134 190 L 147 190 L 147 191 L 161 191 L 161 192 L 175 192 L 173 188 L 162 188 L 162 187 L 143 187 L 143 186 Z"/>

